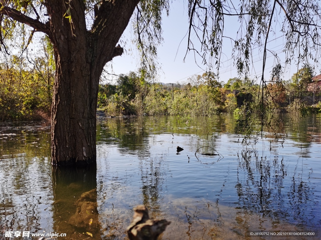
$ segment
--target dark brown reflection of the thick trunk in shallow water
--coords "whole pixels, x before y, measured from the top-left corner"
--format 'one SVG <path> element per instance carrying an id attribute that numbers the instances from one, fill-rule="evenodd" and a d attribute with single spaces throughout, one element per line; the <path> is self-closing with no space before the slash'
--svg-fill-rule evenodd
<path id="1" fill-rule="evenodd" d="M 52 168 L 54 231 L 66 239 L 101 239 L 96 166 Z"/>

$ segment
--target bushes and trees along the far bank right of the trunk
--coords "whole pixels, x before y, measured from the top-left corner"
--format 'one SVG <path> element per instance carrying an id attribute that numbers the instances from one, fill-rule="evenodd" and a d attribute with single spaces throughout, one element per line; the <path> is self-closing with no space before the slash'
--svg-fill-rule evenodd
<path id="1" fill-rule="evenodd" d="M 288 81 L 263 89 L 249 79 L 230 78 L 225 84 L 212 73 L 195 75 L 182 84 L 145 81 L 140 73 L 119 76 L 117 83 L 100 84 L 98 107 L 109 116 L 173 115 L 211 116 L 221 113 L 269 112 L 308 113 L 321 108 L 320 91 L 308 91 L 312 84 L 310 67 L 302 68 Z M 263 110 L 263 109 L 261 109 Z"/>

